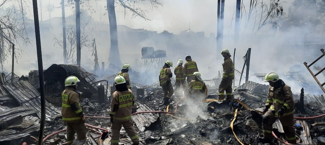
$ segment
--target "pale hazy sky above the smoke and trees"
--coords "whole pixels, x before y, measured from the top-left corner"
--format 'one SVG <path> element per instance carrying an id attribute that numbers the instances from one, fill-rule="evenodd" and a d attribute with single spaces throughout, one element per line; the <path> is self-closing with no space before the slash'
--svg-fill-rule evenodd
<path id="1" fill-rule="evenodd" d="M 287 12 L 289 6 L 293 0 L 286 0 L 284 3 L 284 12 Z M 43 20 L 49 19 L 49 14 L 45 10 L 48 3 L 52 3 L 55 6 L 60 6 L 60 0 L 42 0 L 43 3 Z M 147 16 L 152 19 L 151 21 L 145 21 L 142 18 L 131 18 L 131 14 L 124 17 L 123 8 L 117 6 L 115 8 L 117 24 L 126 25 L 131 28 L 144 28 L 147 30 L 161 32 L 168 30 L 172 33 L 179 34 L 180 31 L 186 30 L 189 27 L 194 32 L 205 31 L 205 36 L 209 36 L 209 33 L 216 33 L 217 23 L 217 0 L 163 0 L 163 6 L 159 9 L 151 10 L 148 5 L 141 5 L 143 9 L 148 10 Z M 284 0 L 280 0 L 284 2 Z M 249 1 L 245 2 L 249 3 Z M 84 5 L 87 6 L 88 4 Z M 91 15 L 96 21 L 107 22 L 108 16 L 105 9 L 106 1 L 98 1 L 97 3 L 91 3 L 96 10 L 96 13 Z M 231 19 L 234 15 L 236 7 L 236 0 L 226 0 L 225 2 L 225 33 L 228 33 L 228 27 Z M 105 16 L 103 16 L 106 13 Z M 73 9 L 71 7 L 66 8 L 66 16 L 72 15 Z M 57 8 L 51 13 L 51 17 L 61 17 L 61 8 Z"/>

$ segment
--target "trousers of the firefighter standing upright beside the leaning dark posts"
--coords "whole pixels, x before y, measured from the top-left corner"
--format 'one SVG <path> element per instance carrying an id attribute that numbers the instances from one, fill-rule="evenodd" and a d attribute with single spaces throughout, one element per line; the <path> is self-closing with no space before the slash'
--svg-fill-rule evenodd
<path id="1" fill-rule="evenodd" d="M 234 78 L 232 76 L 228 76 L 226 79 L 222 79 L 219 85 L 219 99 L 223 100 L 225 99 L 225 91 L 227 98 L 226 99 L 231 99 L 232 98 L 232 80 Z"/>

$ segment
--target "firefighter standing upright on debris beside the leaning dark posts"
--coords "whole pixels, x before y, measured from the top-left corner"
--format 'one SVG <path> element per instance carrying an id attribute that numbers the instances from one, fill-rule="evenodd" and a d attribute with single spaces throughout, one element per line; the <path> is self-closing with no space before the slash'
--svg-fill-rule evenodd
<path id="1" fill-rule="evenodd" d="M 234 63 L 231 60 L 231 55 L 228 49 L 222 49 L 222 56 L 224 57 L 223 67 L 223 76 L 219 85 L 219 99 L 223 100 L 225 98 L 226 91 L 226 99 L 232 99 L 232 80 L 235 78 L 234 73 Z"/>

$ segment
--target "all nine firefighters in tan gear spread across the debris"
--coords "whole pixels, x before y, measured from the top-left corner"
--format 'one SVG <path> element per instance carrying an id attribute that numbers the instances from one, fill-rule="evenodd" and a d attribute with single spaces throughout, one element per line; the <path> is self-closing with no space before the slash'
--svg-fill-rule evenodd
<path id="1" fill-rule="evenodd" d="M 228 49 L 221 51 L 224 57 L 223 76 L 219 85 L 219 100 L 234 99 L 232 97 L 232 80 L 234 79 L 234 64 Z M 175 74 L 175 95 L 179 95 L 181 86 L 187 88 L 186 92 L 193 99 L 207 97 L 208 88 L 201 78 L 198 66 L 191 56 L 185 57 L 183 60 L 177 61 L 174 69 Z M 173 62 L 167 60 L 160 70 L 159 82 L 164 92 L 164 104 L 170 104 L 174 94 L 171 79 L 173 72 Z M 116 87 L 112 94 L 110 105 L 110 122 L 111 122 L 111 145 L 118 145 L 120 140 L 120 130 L 123 126 L 126 133 L 132 140 L 134 145 L 139 144 L 139 137 L 131 120 L 131 116 L 136 112 L 136 100 L 131 91 L 131 84 L 128 70 L 129 64 L 124 64 L 121 72 L 114 79 Z M 186 81 L 185 81 L 186 80 Z M 67 142 L 72 144 L 74 134 L 77 132 L 78 140 L 86 140 L 85 117 L 80 105 L 80 97 L 82 93 L 77 91 L 77 83 L 80 80 L 75 76 L 70 76 L 65 80 L 66 89 L 62 92 L 62 120 L 67 123 Z M 296 143 L 295 128 L 293 120 L 293 99 L 291 88 L 286 85 L 283 80 L 279 79 L 276 73 L 268 73 L 265 76 L 265 82 L 270 85 L 267 95 L 264 116 L 262 119 L 262 128 L 264 137 L 259 138 L 260 143 L 272 143 L 272 124 L 279 119 L 289 143 Z M 226 92 L 226 94 L 225 94 Z M 175 96 L 174 95 L 174 96 Z"/>

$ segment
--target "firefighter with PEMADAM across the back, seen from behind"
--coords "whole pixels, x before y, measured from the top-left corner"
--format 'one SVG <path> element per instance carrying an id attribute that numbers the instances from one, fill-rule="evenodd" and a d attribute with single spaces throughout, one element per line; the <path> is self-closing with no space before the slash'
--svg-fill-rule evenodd
<path id="1" fill-rule="evenodd" d="M 117 76 L 114 79 L 116 86 L 110 102 L 110 122 L 112 139 L 111 145 L 118 145 L 120 141 L 120 130 L 123 126 L 127 135 L 131 138 L 134 145 L 139 144 L 139 136 L 133 126 L 131 114 L 136 112 L 136 101 L 131 89 L 127 88 L 125 79 Z"/>

